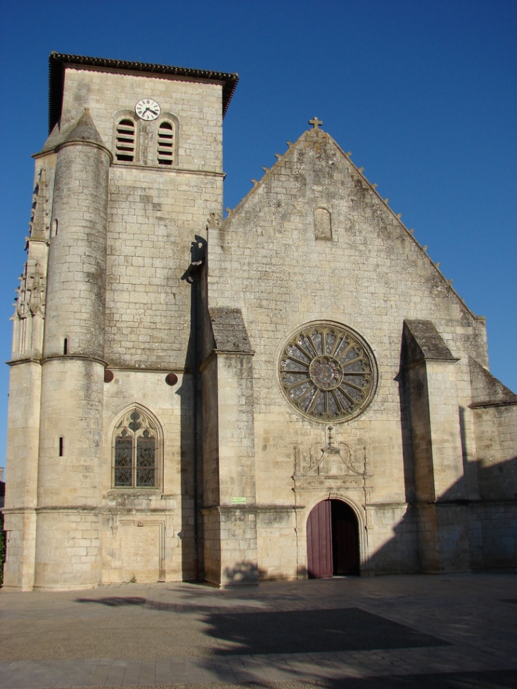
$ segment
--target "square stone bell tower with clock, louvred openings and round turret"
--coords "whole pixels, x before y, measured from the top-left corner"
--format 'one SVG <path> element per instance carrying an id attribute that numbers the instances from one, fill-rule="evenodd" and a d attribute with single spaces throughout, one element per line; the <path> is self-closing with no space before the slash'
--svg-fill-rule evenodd
<path id="1" fill-rule="evenodd" d="M 7 588 L 176 581 L 202 567 L 183 275 L 222 214 L 237 80 L 50 56 L 50 136 L 13 316 Z"/>

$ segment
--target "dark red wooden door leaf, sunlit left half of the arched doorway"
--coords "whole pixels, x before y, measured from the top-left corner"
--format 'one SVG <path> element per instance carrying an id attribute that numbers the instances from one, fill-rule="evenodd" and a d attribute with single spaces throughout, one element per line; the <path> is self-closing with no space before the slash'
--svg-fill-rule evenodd
<path id="1" fill-rule="evenodd" d="M 307 570 L 313 579 L 332 576 L 330 500 L 324 500 L 312 508 L 307 520 Z"/>

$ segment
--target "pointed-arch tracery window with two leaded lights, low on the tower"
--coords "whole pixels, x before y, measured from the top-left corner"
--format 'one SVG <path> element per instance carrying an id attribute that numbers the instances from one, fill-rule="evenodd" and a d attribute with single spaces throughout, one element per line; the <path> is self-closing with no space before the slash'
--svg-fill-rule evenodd
<path id="1" fill-rule="evenodd" d="M 142 409 L 125 412 L 113 431 L 113 487 L 159 486 L 159 431 Z"/>

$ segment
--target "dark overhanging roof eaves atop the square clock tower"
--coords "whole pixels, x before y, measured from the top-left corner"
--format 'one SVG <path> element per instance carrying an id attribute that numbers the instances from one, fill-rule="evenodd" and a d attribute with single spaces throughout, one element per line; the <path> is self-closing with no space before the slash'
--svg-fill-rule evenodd
<path id="1" fill-rule="evenodd" d="M 189 69 L 188 67 L 172 67 L 166 64 L 149 64 L 148 62 L 127 62 L 120 59 L 107 59 L 106 57 L 84 57 L 81 55 L 62 55 L 52 52 L 49 62 L 49 133 L 61 117 L 63 101 L 63 77 L 65 64 L 82 64 L 86 67 L 103 67 L 115 72 L 143 72 L 144 74 L 173 74 L 186 76 L 190 79 L 210 79 L 222 81 L 222 116 L 226 115 L 229 101 L 232 100 L 238 74 L 226 74 L 225 72 L 208 72 L 205 69 Z"/>

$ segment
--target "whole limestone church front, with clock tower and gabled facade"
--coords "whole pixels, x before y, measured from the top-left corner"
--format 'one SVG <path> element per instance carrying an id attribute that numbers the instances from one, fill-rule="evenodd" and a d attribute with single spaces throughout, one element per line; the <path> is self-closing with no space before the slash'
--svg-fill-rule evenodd
<path id="1" fill-rule="evenodd" d="M 236 86 L 50 56 L 4 586 L 513 571 L 484 319 L 317 118 L 222 220 Z"/>

